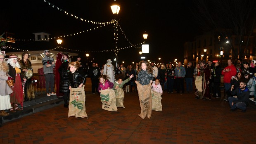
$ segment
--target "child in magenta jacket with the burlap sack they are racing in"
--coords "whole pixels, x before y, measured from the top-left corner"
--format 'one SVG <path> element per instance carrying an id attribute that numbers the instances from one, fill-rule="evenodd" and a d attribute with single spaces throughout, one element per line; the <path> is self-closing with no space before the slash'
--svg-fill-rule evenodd
<path id="1" fill-rule="evenodd" d="M 107 111 L 117 111 L 116 96 L 114 90 L 112 90 L 114 84 L 108 80 L 107 75 L 101 75 L 99 80 L 100 84 L 98 87 L 98 92 L 100 92 L 102 109 Z"/>

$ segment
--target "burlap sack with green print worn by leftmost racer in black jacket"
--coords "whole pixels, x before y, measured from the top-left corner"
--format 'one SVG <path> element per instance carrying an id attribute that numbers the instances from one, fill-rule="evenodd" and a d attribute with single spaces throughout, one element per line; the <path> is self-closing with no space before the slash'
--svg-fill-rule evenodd
<path id="1" fill-rule="evenodd" d="M 75 116 L 76 118 L 88 117 L 85 112 L 85 90 L 84 86 L 81 88 L 71 88 L 69 101 L 69 117 Z"/>

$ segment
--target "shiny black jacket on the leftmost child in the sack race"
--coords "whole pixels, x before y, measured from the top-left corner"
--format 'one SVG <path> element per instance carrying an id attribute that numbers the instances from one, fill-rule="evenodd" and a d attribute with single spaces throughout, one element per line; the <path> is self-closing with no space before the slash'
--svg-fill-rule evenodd
<path id="1" fill-rule="evenodd" d="M 86 83 L 86 77 L 75 71 L 74 73 L 69 72 L 69 86 L 77 88 L 79 85 Z"/>

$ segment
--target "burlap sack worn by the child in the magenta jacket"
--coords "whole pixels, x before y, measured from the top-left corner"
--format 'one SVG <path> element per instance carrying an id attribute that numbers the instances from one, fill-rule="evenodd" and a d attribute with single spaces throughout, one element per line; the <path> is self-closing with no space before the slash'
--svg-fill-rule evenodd
<path id="1" fill-rule="evenodd" d="M 100 92 L 100 99 L 100 101 L 102 102 L 102 109 L 107 111 L 117 111 L 116 96 L 114 90 L 102 90 Z"/>

